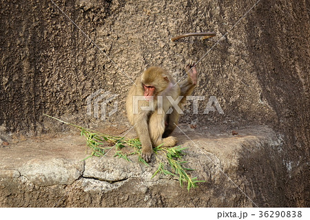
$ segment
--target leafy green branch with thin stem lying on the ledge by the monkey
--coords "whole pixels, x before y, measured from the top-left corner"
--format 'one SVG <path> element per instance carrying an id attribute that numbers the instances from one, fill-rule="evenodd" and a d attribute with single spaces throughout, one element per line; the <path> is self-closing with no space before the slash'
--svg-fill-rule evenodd
<path id="1" fill-rule="evenodd" d="M 47 114 L 44 114 L 47 117 L 56 119 Z M 60 119 L 56 119 L 61 121 Z M 86 139 L 87 146 L 92 149 L 90 156 L 86 157 L 88 159 L 92 156 L 103 157 L 107 152 L 112 148 L 115 148 L 114 157 L 123 158 L 126 161 L 131 161 L 129 156 L 137 154 L 138 161 L 149 166 L 149 164 L 141 156 L 142 146 L 139 139 L 124 139 L 124 137 L 114 137 L 108 134 L 102 134 L 100 132 L 95 132 L 81 126 L 76 126 L 72 123 L 61 121 L 62 123 L 74 126 L 75 128 L 81 131 L 81 136 L 84 136 Z M 110 146 L 105 146 L 106 143 L 109 143 Z M 113 146 L 111 146 L 113 145 Z M 132 151 L 125 153 L 122 151 L 123 148 L 129 147 Z M 181 146 L 175 146 L 173 148 L 163 148 L 163 144 L 154 148 L 155 154 L 161 154 L 165 158 L 165 162 L 156 156 L 158 163 L 158 168 L 152 175 L 151 179 L 154 178 L 157 174 L 165 174 L 172 177 L 177 177 L 180 183 L 180 186 L 183 187 L 183 183 L 187 182 L 187 190 L 191 188 L 196 188 L 197 183 L 205 182 L 197 180 L 197 177 L 191 178 L 187 172 L 193 171 L 191 168 L 186 168 L 187 161 L 183 161 L 183 156 L 185 155 L 184 150 L 187 148 L 182 148 Z M 128 148 L 126 149 L 128 150 Z M 83 159 L 83 160 L 85 160 Z"/>

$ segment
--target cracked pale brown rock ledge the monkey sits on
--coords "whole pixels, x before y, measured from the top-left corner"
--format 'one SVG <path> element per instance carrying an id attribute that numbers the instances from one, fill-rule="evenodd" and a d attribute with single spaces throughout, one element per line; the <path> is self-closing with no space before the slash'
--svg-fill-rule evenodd
<path id="1" fill-rule="evenodd" d="M 218 207 L 282 206 L 282 140 L 265 126 L 210 132 L 180 126 L 180 145 L 198 188 L 180 188 L 149 166 L 89 154 L 78 134 L 46 134 L 0 148 L 1 207 Z M 129 134 L 130 135 L 130 134 Z M 186 184 L 185 184 L 186 185 Z"/>

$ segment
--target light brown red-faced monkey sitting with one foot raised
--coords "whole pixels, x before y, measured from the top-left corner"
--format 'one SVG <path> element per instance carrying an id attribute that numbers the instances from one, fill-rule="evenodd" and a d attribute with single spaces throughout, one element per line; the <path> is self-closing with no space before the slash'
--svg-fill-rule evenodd
<path id="1" fill-rule="evenodd" d="M 126 99 L 127 118 L 134 126 L 142 144 L 142 157 L 150 162 L 153 147 L 176 145 L 176 137 L 169 136 L 176 128 L 179 110 L 197 83 L 194 61 L 185 63 L 187 79 L 176 83 L 159 67 L 150 67 L 136 79 Z M 170 109 L 171 108 L 171 109 Z"/>

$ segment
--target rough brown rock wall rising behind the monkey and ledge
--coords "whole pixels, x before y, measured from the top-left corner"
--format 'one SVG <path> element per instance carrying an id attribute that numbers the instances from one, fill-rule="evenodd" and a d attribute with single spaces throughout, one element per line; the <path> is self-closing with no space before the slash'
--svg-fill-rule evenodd
<path id="1" fill-rule="evenodd" d="M 43 113 L 104 126 L 86 114 L 86 98 L 99 88 L 118 94 L 118 113 L 108 122 L 126 124 L 130 79 L 152 65 L 180 79 L 185 59 L 198 61 L 210 50 L 198 63 L 194 94 L 215 95 L 225 114 L 202 114 L 206 99 L 200 114 L 181 122 L 273 128 L 285 141 L 286 204 L 309 206 L 309 1 L 261 0 L 247 14 L 256 1 L 55 1 L 116 65 L 52 1 L 0 2 L 3 139 L 68 130 Z M 217 36 L 169 41 L 203 31 Z"/>

